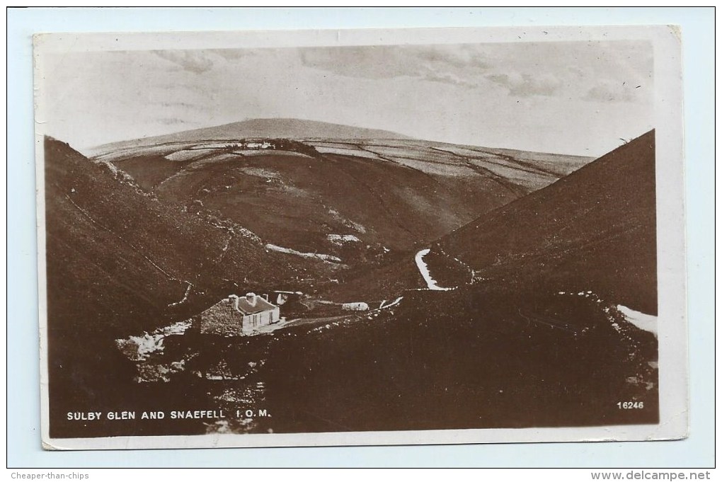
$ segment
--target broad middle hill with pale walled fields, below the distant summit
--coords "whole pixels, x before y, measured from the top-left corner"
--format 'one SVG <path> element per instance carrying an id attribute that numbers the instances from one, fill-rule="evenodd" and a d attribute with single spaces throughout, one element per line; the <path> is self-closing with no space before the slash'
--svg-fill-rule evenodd
<path id="1" fill-rule="evenodd" d="M 111 149 L 94 159 L 161 201 L 204 206 L 274 245 L 344 263 L 435 240 L 591 160 L 404 139 L 270 137 Z M 339 236 L 358 241 L 339 247 Z"/>

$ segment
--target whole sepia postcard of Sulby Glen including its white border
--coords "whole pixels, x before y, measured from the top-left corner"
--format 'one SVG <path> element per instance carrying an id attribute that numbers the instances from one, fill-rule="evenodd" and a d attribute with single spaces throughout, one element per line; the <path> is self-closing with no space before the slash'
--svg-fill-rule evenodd
<path id="1" fill-rule="evenodd" d="M 674 27 L 33 40 L 45 449 L 686 437 Z"/>

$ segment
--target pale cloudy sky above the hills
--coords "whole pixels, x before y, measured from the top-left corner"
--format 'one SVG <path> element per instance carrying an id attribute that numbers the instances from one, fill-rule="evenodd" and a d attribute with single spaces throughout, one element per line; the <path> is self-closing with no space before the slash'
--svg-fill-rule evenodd
<path id="1" fill-rule="evenodd" d="M 253 118 L 600 156 L 654 127 L 646 41 L 48 54 L 45 133 L 83 150 Z"/>

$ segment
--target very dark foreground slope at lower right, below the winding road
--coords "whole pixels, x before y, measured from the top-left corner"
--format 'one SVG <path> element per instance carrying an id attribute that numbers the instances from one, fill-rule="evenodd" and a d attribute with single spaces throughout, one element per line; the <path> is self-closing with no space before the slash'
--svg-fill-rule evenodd
<path id="1" fill-rule="evenodd" d="M 603 306 L 469 286 L 408 292 L 393 313 L 345 326 L 288 330 L 264 367 L 274 418 L 258 429 L 655 423 L 657 374 L 647 362 L 656 339 Z M 620 398 L 643 400 L 645 410 L 621 411 Z"/>

